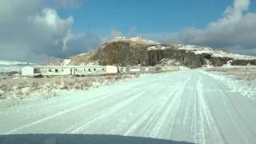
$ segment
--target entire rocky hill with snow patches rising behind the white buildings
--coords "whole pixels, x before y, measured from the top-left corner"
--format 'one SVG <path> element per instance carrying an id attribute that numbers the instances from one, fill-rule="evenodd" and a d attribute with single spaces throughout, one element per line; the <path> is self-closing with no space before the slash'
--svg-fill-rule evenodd
<path id="1" fill-rule="evenodd" d="M 109 41 L 94 52 L 70 58 L 71 64 L 74 65 L 92 63 L 117 66 L 155 66 L 161 63 L 163 59 L 170 59 L 179 65 L 190 68 L 206 65 L 223 66 L 226 64 L 239 66 L 256 65 L 256 58 L 250 56 L 231 54 L 223 50 L 214 50 L 200 46 L 168 46 L 141 39 Z"/>

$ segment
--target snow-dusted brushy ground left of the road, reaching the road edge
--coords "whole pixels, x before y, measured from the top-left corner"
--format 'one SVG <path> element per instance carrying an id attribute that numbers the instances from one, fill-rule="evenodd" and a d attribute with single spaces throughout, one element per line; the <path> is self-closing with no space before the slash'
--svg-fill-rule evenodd
<path id="1" fill-rule="evenodd" d="M 65 95 L 66 90 L 89 90 L 114 82 L 138 78 L 139 74 L 59 76 L 52 78 L 0 78 L 0 109 Z"/>

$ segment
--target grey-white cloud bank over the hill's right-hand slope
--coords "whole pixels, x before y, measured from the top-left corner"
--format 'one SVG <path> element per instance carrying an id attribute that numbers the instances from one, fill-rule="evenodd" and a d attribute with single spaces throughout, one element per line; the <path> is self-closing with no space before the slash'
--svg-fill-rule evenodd
<path id="1" fill-rule="evenodd" d="M 256 13 L 248 12 L 249 6 L 250 0 L 234 0 L 222 18 L 210 22 L 205 29 L 189 26 L 178 33 L 150 34 L 150 38 L 162 42 L 222 47 L 237 53 L 256 55 Z"/>

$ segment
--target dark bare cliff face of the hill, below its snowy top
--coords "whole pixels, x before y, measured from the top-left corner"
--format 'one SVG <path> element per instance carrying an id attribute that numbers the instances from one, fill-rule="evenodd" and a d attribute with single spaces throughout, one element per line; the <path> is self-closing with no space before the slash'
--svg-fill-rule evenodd
<path id="1" fill-rule="evenodd" d="M 162 49 L 162 47 L 165 47 Z M 195 54 L 193 51 L 178 49 L 178 46 L 134 45 L 129 41 L 109 42 L 98 49 L 94 61 L 100 65 L 155 66 L 162 59 L 175 59 L 182 66 L 198 68 L 207 65 L 223 66 L 233 58 L 212 57 L 212 54 Z"/>

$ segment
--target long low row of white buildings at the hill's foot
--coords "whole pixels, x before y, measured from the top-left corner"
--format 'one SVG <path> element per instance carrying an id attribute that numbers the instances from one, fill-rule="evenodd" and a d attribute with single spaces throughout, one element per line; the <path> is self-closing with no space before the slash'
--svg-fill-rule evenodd
<path id="1" fill-rule="evenodd" d="M 90 75 L 186 70 L 182 66 L 26 66 L 22 76 Z"/>

